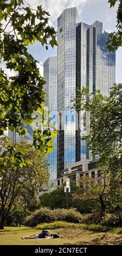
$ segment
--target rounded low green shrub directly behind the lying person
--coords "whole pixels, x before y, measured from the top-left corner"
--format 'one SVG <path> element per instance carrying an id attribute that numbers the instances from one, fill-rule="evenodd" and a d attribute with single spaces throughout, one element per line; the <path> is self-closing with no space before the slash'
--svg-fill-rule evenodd
<path id="1" fill-rule="evenodd" d="M 36 210 L 29 217 L 26 218 L 24 225 L 28 227 L 35 227 L 40 223 L 49 223 L 55 221 L 54 211 L 49 208 L 43 207 L 39 210 Z"/>

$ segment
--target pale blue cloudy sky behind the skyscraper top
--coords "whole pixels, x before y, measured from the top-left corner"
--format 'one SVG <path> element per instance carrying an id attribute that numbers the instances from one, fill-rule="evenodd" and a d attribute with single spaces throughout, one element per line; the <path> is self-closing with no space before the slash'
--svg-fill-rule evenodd
<path id="1" fill-rule="evenodd" d="M 95 20 L 104 23 L 104 29 L 107 32 L 115 30 L 117 5 L 110 9 L 110 4 L 107 0 L 24 0 L 24 3 L 29 3 L 31 7 L 41 5 L 44 10 L 49 11 L 49 22 L 53 27 L 57 27 L 57 17 L 61 12 L 70 7 L 76 7 L 80 15 L 80 21 L 91 25 Z M 43 62 L 51 56 L 56 56 L 56 47 L 42 47 L 36 42 L 33 46 L 29 46 L 29 51 L 39 62 Z M 122 47 L 119 48 L 116 54 L 116 82 L 122 82 Z M 41 73 L 43 66 L 40 65 Z"/>

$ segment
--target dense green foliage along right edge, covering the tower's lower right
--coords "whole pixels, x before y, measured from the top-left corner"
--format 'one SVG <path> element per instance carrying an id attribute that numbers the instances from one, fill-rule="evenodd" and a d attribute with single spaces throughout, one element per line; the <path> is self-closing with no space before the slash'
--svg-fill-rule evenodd
<path id="1" fill-rule="evenodd" d="M 99 90 L 95 95 L 89 95 L 88 88 L 78 89 L 77 102 L 73 107 L 90 112 L 90 133 L 83 139 L 86 139 L 92 155 L 99 159 L 102 173 L 109 178 L 108 208 L 121 209 L 122 84 L 114 84 L 108 97 Z"/>

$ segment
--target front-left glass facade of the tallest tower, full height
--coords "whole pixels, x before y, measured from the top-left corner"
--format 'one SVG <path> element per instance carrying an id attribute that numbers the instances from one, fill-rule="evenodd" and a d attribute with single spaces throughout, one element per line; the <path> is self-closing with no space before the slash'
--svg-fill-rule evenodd
<path id="1" fill-rule="evenodd" d="M 57 19 L 57 111 L 59 112 L 59 135 L 57 135 L 57 176 L 76 159 L 75 113 L 69 102 L 76 88 L 76 8 L 63 11 Z M 72 115 L 74 118 L 72 118 Z M 79 147 L 80 160 L 80 147 Z"/>

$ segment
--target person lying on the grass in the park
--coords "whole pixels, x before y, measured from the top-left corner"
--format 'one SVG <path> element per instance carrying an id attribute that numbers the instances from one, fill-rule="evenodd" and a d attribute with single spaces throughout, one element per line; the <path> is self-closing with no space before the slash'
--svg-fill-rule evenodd
<path id="1" fill-rule="evenodd" d="M 42 230 L 40 234 L 22 236 L 21 239 L 50 239 L 50 238 L 58 238 L 58 237 L 59 237 L 59 233 L 50 234 L 49 231 Z"/>

